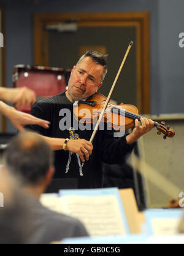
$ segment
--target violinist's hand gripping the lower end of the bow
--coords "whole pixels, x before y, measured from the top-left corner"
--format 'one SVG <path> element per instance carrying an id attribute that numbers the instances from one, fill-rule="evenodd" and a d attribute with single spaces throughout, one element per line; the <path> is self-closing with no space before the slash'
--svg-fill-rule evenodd
<path id="1" fill-rule="evenodd" d="M 93 144 L 85 139 L 69 139 L 66 149 L 72 153 L 78 153 L 80 159 L 84 162 L 85 160 L 89 160 L 93 151 Z"/>

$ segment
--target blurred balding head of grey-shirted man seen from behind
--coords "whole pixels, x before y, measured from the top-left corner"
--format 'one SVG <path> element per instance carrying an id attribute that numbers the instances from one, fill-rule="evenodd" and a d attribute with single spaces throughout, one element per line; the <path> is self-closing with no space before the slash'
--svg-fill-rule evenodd
<path id="1" fill-rule="evenodd" d="M 10 141 L 4 160 L 8 171 L 18 176 L 23 185 L 34 185 L 44 179 L 53 165 L 53 152 L 38 134 L 23 132 Z"/>

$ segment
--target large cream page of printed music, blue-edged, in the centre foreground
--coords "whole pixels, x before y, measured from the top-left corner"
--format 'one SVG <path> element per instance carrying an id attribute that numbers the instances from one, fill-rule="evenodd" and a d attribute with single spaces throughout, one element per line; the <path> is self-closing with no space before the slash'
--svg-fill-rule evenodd
<path id="1" fill-rule="evenodd" d="M 63 212 L 80 219 L 91 236 L 126 234 L 115 195 L 63 196 Z"/>

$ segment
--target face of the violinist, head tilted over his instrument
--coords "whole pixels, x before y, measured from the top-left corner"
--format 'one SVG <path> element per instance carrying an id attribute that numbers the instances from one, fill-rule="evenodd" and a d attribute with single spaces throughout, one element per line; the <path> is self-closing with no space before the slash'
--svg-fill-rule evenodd
<path id="1" fill-rule="evenodd" d="M 85 99 L 96 93 L 102 85 L 103 70 L 104 68 L 95 63 L 91 57 L 84 58 L 74 66 L 68 82 L 67 96 L 69 99 Z"/>

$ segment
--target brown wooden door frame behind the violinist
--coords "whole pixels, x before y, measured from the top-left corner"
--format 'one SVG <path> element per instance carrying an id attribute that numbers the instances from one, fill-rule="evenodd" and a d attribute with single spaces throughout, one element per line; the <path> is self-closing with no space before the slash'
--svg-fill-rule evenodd
<path id="1" fill-rule="evenodd" d="M 150 13 L 95 12 L 65 14 L 34 14 L 34 64 L 48 66 L 47 25 L 74 21 L 78 26 L 135 26 L 137 44 L 137 107 L 150 114 Z M 130 40 L 131 41 L 131 40 Z"/>

